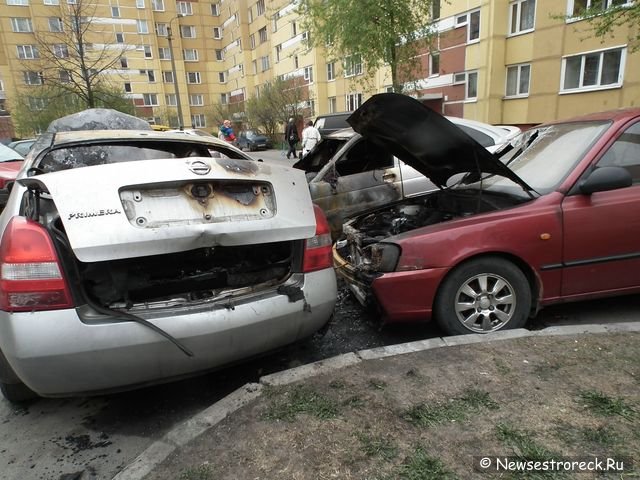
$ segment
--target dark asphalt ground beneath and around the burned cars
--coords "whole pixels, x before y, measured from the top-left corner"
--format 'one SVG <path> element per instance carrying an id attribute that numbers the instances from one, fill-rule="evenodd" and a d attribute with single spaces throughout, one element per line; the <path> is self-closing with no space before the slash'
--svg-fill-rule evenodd
<path id="1" fill-rule="evenodd" d="M 251 154 L 291 165 L 278 150 Z M 529 327 L 633 321 L 640 296 L 556 306 Z M 380 330 L 343 288 L 322 338 L 190 380 L 110 396 L 40 399 L 15 407 L 0 399 L 2 480 L 111 479 L 175 424 L 264 374 L 340 353 L 440 336 L 435 325 Z"/>

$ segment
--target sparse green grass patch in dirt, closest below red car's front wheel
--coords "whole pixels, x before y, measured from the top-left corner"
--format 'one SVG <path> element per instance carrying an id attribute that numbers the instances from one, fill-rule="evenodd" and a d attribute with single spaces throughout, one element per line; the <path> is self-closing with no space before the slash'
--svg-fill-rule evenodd
<path id="1" fill-rule="evenodd" d="M 404 411 L 402 418 L 412 425 L 430 427 L 445 422 L 457 422 L 468 418 L 469 414 L 481 410 L 497 410 L 498 404 L 488 392 L 468 389 L 461 397 L 447 403 L 422 403 Z"/>

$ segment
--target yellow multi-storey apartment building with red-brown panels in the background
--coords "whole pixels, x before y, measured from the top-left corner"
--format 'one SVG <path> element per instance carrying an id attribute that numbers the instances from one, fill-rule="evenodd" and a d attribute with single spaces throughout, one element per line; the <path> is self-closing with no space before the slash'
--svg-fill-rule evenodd
<path id="1" fill-rule="evenodd" d="M 156 123 L 215 130 L 212 109 L 243 119 L 244 101 L 281 77 L 305 91 L 305 116 L 353 110 L 391 86 L 382 69 L 365 86 L 358 56 L 329 60 L 310 49 L 295 1 L 0 0 L 0 107 L 37 89 L 37 35 L 60 27 L 69 5 L 83 16 L 94 54 L 111 51 L 104 72 Z M 627 0 L 598 0 L 604 8 Z M 633 0 L 628 0 L 633 3 Z M 409 92 L 432 108 L 494 124 L 528 125 L 638 105 L 637 25 L 595 38 L 580 17 L 596 0 L 455 0 L 435 10 L 438 35 L 419 55 Z M 439 10 L 439 11 L 438 11 Z M 565 19 L 564 16 L 568 16 Z M 173 60 L 173 62 L 172 62 Z M 33 65 L 30 66 L 30 65 Z M 178 100 L 179 99 L 179 100 Z"/>

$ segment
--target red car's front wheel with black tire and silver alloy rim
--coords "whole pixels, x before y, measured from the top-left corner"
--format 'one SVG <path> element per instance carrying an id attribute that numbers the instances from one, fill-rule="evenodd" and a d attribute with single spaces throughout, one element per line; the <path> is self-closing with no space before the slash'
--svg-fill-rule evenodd
<path id="1" fill-rule="evenodd" d="M 445 278 L 434 316 L 450 335 L 520 328 L 531 309 L 531 288 L 522 270 L 498 257 L 470 260 Z"/>

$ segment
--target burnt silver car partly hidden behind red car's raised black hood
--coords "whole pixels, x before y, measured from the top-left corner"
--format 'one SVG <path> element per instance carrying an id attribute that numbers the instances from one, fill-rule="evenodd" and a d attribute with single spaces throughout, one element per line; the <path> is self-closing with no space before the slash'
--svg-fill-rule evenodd
<path id="1" fill-rule="evenodd" d="M 517 127 L 507 131 L 473 120 L 446 118 L 491 152 L 520 132 Z M 351 128 L 327 135 L 293 166 L 307 172 L 311 197 L 327 215 L 334 238 L 340 236 L 345 218 L 436 188 L 420 171 Z"/>

